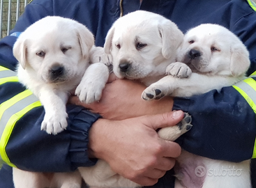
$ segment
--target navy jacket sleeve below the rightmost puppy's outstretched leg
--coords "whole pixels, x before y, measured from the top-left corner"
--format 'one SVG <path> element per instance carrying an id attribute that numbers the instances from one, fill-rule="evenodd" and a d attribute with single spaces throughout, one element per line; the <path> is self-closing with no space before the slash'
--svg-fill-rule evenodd
<path id="1" fill-rule="evenodd" d="M 174 99 L 174 109 L 188 111 L 193 129 L 181 147 L 213 159 L 241 162 L 253 156 L 255 111 L 232 86 L 190 98 Z"/>

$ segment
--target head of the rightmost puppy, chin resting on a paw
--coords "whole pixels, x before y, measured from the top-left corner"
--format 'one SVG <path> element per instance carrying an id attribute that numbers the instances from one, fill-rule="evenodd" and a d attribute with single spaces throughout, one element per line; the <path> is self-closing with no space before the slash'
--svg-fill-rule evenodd
<path id="1" fill-rule="evenodd" d="M 250 65 L 249 53 L 237 36 L 223 26 L 201 24 L 190 29 L 178 49 L 178 61 L 194 72 L 239 77 Z"/>

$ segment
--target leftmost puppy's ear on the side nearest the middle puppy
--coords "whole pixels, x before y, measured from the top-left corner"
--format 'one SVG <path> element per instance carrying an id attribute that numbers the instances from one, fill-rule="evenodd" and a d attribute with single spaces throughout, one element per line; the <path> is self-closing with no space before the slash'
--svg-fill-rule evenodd
<path id="1" fill-rule="evenodd" d="M 94 45 L 94 36 L 89 29 L 86 28 L 86 26 L 80 24 L 80 26 L 77 28 L 77 38 L 80 42 L 80 47 L 82 51 L 82 56 L 86 58 L 86 56 L 89 56 L 89 50 Z"/>

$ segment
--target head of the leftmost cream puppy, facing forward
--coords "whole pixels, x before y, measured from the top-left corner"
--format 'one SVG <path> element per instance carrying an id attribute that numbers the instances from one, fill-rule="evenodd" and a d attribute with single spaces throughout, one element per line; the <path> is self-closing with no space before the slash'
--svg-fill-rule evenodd
<path id="1" fill-rule="evenodd" d="M 93 44 L 93 34 L 82 24 L 45 17 L 17 38 L 13 54 L 24 70 L 46 83 L 57 83 L 82 74 Z"/>

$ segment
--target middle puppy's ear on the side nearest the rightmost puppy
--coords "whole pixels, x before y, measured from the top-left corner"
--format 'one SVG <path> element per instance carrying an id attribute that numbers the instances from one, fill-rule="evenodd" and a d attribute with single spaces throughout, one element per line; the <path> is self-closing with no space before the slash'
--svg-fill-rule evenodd
<path id="1" fill-rule="evenodd" d="M 183 41 L 183 33 L 179 28 L 170 20 L 158 25 L 160 36 L 163 40 L 162 54 L 165 58 L 176 56 L 176 49 L 181 45 Z"/>

